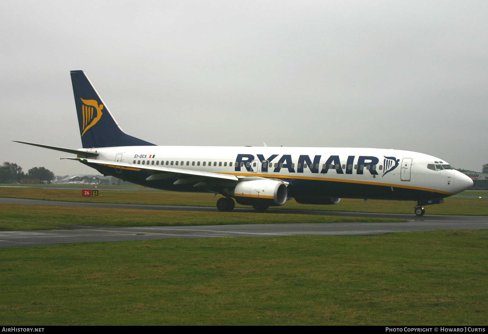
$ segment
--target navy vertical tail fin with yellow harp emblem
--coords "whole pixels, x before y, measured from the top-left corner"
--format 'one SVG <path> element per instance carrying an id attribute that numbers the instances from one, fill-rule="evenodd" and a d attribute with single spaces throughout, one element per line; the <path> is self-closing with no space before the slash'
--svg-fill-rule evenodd
<path id="1" fill-rule="evenodd" d="M 83 148 L 155 145 L 122 132 L 83 71 L 71 71 L 71 83 Z"/>

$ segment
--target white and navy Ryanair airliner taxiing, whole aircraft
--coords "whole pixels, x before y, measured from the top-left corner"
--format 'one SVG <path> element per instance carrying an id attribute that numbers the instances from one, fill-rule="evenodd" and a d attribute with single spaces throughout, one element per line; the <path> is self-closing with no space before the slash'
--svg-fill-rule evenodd
<path id="1" fill-rule="evenodd" d="M 76 154 L 78 160 L 124 181 L 156 189 L 221 194 L 265 210 L 295 198 L 337 204 L 341 198 L 415 201 L 414 212 L 466 190 L 473 181 L 444 159 L 383 148 L 156 146 L 122 132 L 83 71 L 71 71 L 83 148 L 19 142 Z"/>

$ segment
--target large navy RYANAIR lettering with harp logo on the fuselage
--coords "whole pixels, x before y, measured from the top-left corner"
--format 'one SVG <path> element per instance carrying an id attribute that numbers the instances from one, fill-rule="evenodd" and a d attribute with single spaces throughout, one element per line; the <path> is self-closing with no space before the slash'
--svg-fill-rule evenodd
<path id="1" fill-rule="evenodd" d="M 333 169 L 337 174 L 352 174 L 354 170 L 355 174 L 364 174 L 366 169 L 366 173 L 369 172 L 371 175 L 379 175 L 379 170 L 384 176 L 398 167 L 400 162 L 400 159 L 386 156 L 382 159 L 383 164 L 380 164 L 380 159 L 373 156 L 360 155 L 356 158 L 355 155 L 349 155 L 345 161 L 341 162 L 338 155 L 331 155 L 325 161 L 322 159 L 322 155 L 316 155 L 313 159 L 308 155 L 300 155 L 295 166 L 290 154 L 284 154 L 280 158 L 278 156 L 278 154 L 272 154 L 265 158 L 262 154 L 256 154 L 256 157 L 252 154 L 238 154 L 235 171 L 245 168 L 249 172 L 255 172 L 260 166 L 264 173 L 268 171 L 279 173 L 282 168 L 288 169 L 289 173 L 303 173 L 304 169 L 308 168 L 312 173 L 320 171 L 320 173 L 326 174 L 329 169 Z"/>

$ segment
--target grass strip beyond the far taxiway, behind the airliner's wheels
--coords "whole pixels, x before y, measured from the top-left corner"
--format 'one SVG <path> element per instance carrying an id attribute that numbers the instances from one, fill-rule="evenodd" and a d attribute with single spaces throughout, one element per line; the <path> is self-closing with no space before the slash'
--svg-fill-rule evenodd
<path id="1" fill-rule="evenodd" d="M 125 187 L 125 186 L 120 186 Z M 481 191 L 482 192 L 482 191 Z M 468 196 L 477 196 L 474 191 L 464 192 Z M 42 189 L 42 188 L 0 188 L 0 197 L 15 197 L 27 199 L 41 199 L 50 201 L 70 202 L 98 202 L 98 203 L 132 203 L 156 205 L 182 205 L 198 207 L 215 207 L 216 198 L 210 193 L 186 193 L 173 191 L 131 191 L 131 190 L 104 190 L 101 196 L 81 197 L 79 189 Z M 482 195 L 483 196 L 483 195 Z M 486 195 L 485 195 L 486 196 Z M 220 197 L 220 195 L 219 195 Z M 336 205 L 305 205 L 290 200 L 281 207 L 272 209 L 295 210 L 324 210 L 345 212 L 382 212 L 382 213 L 413 213 L 414 202 L 342 199 Z M 237 208 L 249 208 L 236 205 Z M 488 215 L 488 198 L 454 198 L 448 197 L 444 204 L 426 207 L 427 214 L 448 215 Z"/>

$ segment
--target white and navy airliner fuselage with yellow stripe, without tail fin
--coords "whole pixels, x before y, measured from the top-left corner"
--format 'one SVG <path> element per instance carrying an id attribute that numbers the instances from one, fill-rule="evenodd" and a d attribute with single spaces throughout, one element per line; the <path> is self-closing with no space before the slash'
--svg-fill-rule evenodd
<path id="1" fill-rule="evenodd" d="M 349 147 L 261 146 L 116 146 L 83 148 L 105 161 L 136 168 L 86 165 L 142 186 L 205 192 L 195 183 L 176 178 L 146 180 L 151 174 L 138 165 L 191 169 L 245 177 L 283 180 L 289 197 L 338 197 L 418 201 L 444 198 L 472 185 L 463 173 L 443 160 L 423 153 Z M 216 192 L 218 192 L 216 190 Z"/>

